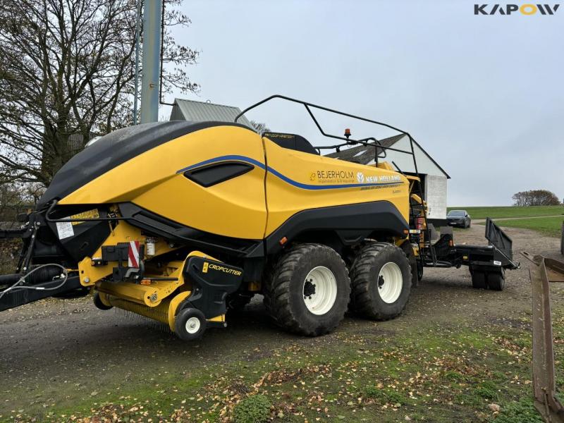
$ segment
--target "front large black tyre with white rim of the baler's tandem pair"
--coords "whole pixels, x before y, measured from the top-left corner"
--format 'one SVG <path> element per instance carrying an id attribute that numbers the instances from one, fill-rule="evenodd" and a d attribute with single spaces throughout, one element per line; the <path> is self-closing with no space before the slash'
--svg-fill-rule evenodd
<path id="1" fill-rule="evenodd" d="M 320 244 L 290 248 L 264 283 L 264 305 L 276 324 L 306 336 L 333 331 L 345 317 L 349 295 L 345 262 Z"/>

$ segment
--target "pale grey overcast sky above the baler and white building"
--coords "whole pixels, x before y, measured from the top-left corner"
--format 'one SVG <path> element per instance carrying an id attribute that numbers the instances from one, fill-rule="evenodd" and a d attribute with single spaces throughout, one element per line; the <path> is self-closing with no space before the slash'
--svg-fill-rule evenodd
<path id="1" fill-rule="evenodd" d="M 286 94 L 390 123 L 449 173 L 450 206 L 510 205 L 535 188 L 564 197 L 564 6 L 474 16 L 467 0 L 186 0 L 183 11 L 192 25 L 174 34 L 201 51 L 188 72 L 202 90 L 177 97 L 243 109 Z M 298 106 L 249 117 L 326 143 Z"/>

